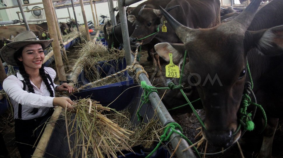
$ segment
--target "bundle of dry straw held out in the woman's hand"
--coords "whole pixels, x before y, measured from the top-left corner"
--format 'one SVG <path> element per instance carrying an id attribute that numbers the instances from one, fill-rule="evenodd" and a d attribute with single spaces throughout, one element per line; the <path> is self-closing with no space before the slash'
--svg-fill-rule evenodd
<path id="1" fill-rule="evenodd" d="M 149 148 L 163 132 L 158 120 L 151 119 L 134 127 L 127 111 L 117 112 L 91 99 L 76 102 L 76 117 L 67 123 L 68 126 L 77 124 L 69 132 L 69 135 L 76 134 L 75 148 L 70 148 L 76 157 L 117 157 L 116 152 L 123 155 L 121 150 L 132 151 L 131 147 L 139 144 Z"/>

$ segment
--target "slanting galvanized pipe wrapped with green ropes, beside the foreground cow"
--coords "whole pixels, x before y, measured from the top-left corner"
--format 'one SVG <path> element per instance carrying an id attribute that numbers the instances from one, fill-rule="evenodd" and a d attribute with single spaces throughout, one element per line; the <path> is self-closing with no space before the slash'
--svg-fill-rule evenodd
<path id="1" fill-rule="evenodd" d="M 135 72 L 137 73 L 138 71 L 142 71 L 142 69 L 138 68 L 138 69 L 136 69 Z M 139 75 L 139 80 L 146 81 L 147 85 L 152 86 L 151 83 L 149 82 L 149 79 L 146 77 L 146 75 L 144 73 L 141 73 Z M 156 92 L 151 92 L 151 94 L 149 94 L 149 100 L 151 102 L 151 105 L 153 106 L 153 109 L 156 109 L 156 115 L 159 119 L 159 122 L 163 125 L 163 127 L 166 126 L 168 123 L 175 122 L 172 119 L 169 112 L 167 111 L 164 104 L 162 103 L 162 101 L 160 101 L 160 98 L 159 98 L 159 96 Z M 178 132 L 180 132 L 180 130 L 178 130 L 178 129 L 176 129 L 176 130 Z M 177 144 L 179 143 L 179 141 L 181 139 L 179 147 L 177 148 L 177 151 L 176 151 L 176 155 L 177 155 L 178 158 L 188 158 L 188 157 L 196 158 L 195 154 L 193 153 L 193 151 L 191 149 L 188 149 L 184 152 L 182 151 L 182 150 L 188 148 L 189 145 L 188 145 L 188 143 L 185 139 L 183 139 L 181 136 L 179 136 L 179 134 L 176 134 L 176 133 L 173 132 L 172 135 L 170 136 L 170 139 L 171 139 L 170 142 L 171 142 L 174 149 L 176 149 Z"/>

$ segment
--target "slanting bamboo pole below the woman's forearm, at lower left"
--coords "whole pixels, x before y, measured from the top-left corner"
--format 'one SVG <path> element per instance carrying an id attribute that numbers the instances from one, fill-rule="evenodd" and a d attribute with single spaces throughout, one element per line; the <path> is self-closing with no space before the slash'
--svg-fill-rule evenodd
<path id="1" fill-rule="evenodd" d="M 36 149 L 34 150 L 32 158 L 38 158 L 44 156 L 45 150 L 50 141 L 50 137 L 55 128 L 56 121 L 59 119 L 61 109 L 62 109 L 61 107 L 55 108 L 49 122 L 46 125 L 46 128 L 44 129 L 44 132 L 39 140 L 39 143 L 37 144 Z"/>

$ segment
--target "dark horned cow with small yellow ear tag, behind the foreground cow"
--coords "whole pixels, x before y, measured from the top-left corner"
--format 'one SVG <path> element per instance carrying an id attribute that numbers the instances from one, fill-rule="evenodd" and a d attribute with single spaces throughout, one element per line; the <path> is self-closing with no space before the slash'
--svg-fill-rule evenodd
<path id="1" fill-rule="evenodd" d="M 184 26 L 190 28 L 210 28 L 220 23 L 219 0 L 172 0 L 166 6 L 167 9 L 179 5 L 170 10 L 171 15 Z M 128 15 L 128 20 L 135 24 L 135 30 L 130 37 L 132 46 L 149 43 L 153 38 L 159 42 L 181 43 L 172 27 L 165 24 L 167 32 L 162 32 L 164 17 L 160 10 L 144 8 L 137 17 Z M 152 33 L 159 32 L 151 35 Z M 141 39 L 151 35 L 145 39 Z M 141 40 L 138 40 L 141 39 Z"/>

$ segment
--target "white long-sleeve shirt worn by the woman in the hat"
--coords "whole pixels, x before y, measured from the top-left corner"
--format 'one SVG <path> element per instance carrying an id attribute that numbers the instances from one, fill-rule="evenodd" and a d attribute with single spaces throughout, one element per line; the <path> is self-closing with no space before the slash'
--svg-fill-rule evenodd
<path id="1" fill-rule="evenodd" d="M 50 75 L 52 81 L 56 77 L 56 72 L 50 67 L 44 67 L 45 71 Z M 23 90 L 23 83 L 20 80 L 24 80 L 20 72 L 17 72 L 17 76 L 8 76 L 3 82 L 3 89 L 8 94 L 13 107 L 14 107 L 14 118 L 18 119 L 18 105 L 22 104 L 22 120 L 34 119 L 37 117 L 44 116 L 47 114 L 49 107 L 53 107 L 53 98 L 50 97 L 50 93 L 42 81 L 40 89 L 38 89 L 32 81 L 31 84 L 34 88 L 34 93 L 28 92 L 28 87 L 26 85 L 26 91 Z M 47 79 L 48 80 L 48 79 Z M 48 80 L 50 83 L 50 81 Z M 54 87 L 57 85 L 54 84 Z M 51 89 L 54 89 L 51 86 Z M 55 93 L 54 93 L 55 94 Z M 33 108 L 38 108 L 36 114 L 32 114 Z"/>

